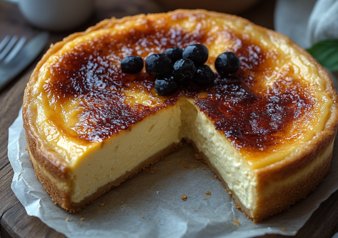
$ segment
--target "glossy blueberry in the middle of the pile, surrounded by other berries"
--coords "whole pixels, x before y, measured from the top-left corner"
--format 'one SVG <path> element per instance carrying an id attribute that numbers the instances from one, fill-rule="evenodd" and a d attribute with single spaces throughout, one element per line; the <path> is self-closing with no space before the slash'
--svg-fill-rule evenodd
<path id="1" fill-rule="evenodd" d="M 196 66 L 190 59 L 179 59 L 174 64 L 173 76 L 179 84 L 186 84 L 194 78 Z"/>

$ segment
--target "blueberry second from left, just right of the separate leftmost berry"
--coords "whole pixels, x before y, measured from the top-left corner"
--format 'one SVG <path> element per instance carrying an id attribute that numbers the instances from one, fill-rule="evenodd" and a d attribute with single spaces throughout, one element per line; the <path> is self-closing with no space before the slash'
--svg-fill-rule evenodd
<path id="1" fill-rule="evenodd" d="M 164 54 L 153 54 L 145 60 L 145 70 L 152 76 L 170 74 L 173 68 L 171 59 Z"/>

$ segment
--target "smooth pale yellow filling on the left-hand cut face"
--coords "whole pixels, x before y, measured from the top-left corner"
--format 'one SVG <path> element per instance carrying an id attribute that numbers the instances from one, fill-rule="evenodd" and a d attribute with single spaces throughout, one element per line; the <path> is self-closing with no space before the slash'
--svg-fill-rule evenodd
<path id="1" fill-rule="evenodd" d="M 180 110 L 176 104 L 148 116 L 132 130 L 90 147 L 72 166 L 72 201 L 80 202 L 169 145 L 179 143 L 179 126 Z"/>

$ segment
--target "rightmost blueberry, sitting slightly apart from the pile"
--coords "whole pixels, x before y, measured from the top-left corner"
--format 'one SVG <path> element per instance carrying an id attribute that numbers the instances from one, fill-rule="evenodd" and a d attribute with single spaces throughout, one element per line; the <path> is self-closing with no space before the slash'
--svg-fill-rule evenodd
<path id="1" fill-rule="evenodd" d="M 225 52 L 215 61 L 215 68 L 220 75 L 236 73 L 240 67 L 240 60 L 235 53 Z"/>

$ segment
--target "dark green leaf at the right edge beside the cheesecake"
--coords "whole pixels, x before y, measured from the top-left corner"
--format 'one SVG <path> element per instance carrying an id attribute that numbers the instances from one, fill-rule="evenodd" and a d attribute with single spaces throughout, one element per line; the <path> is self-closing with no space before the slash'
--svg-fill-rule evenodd
<path id="1" fill-rule="evenodd" d="M 324 67 L 338 70 L 338 39 L 321 40 L 307 49 L 313 58 Z"/>

